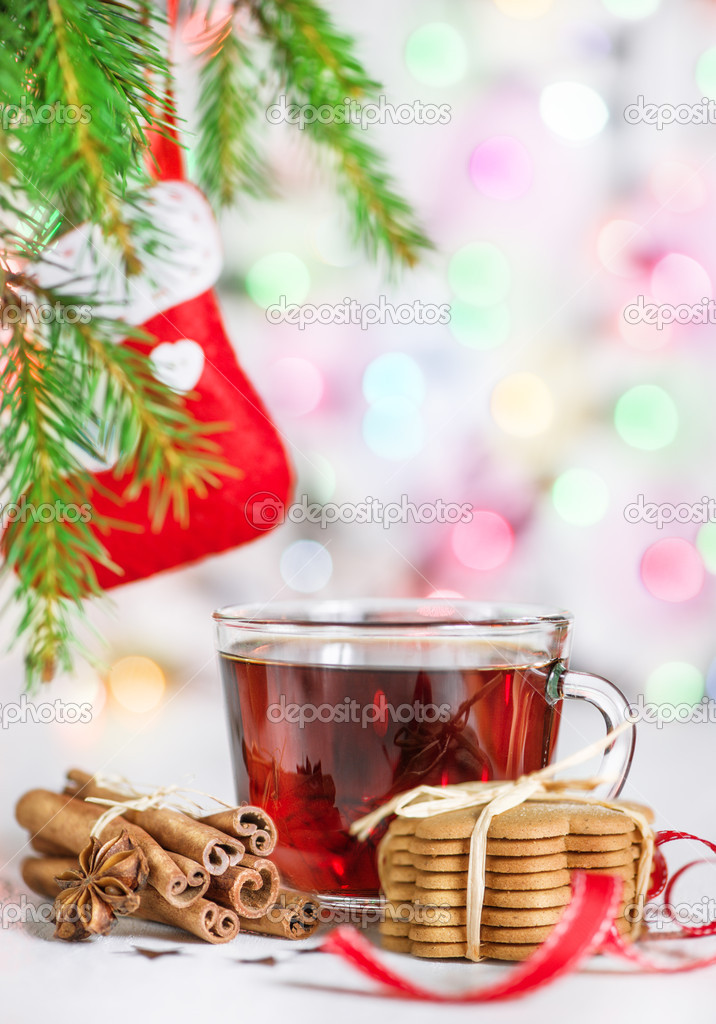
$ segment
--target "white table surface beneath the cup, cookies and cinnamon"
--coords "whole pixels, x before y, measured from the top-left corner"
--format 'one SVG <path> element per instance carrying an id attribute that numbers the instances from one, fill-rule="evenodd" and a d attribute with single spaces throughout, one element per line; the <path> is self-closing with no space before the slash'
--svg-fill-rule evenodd
<path id="1" fill-rule="evenodd" d="M 560 754 L 593 737 L 597 723 L 589 713 L 571 712 L 560 738 Z M 580 717 L 581 716 L 581 717 Z M 596 717 L 596 716 L 595 716 Z M 75 729 L 72 732 L 72 729 Z M 83 729 L 85 730 L 83 732 Z M 94 731 L 92 731 L 94 730 Z M 14 801 L 36 785 L 57 788 L 72 764 L 122 771 L 152 781 L 186 782 L 228 797 L 228 750 L 218 685 L 213 673 L 170 699 L 161 714 L 121 721 L 108 716 L 89 727 L 17 726 L 0 742 L 0 885 L 3 898 L 24 892 L 18 864 L 25 836 L 12 817 Z M 625 796 L 658 809 L 658 827 L 674 827 L 707 838 L 716 836 L 714 813 L 714 727 L 640 726 L 634 769 Z M 112 753 L 114 752 L 114 753 Z M 103 763 L 100 764 L 100 757 Z M 26 850 L 25 853 L 28 851 Z M 700 851 L 694 851 L 700 855 Z M 688 851 L 685 851 L 687 854 Z M 682 857 L 683 859 L 683 857 Z M 711 883 L 716 896 L 716 868 Z M 144 1022 L 172 1024 L 198 1020 L 241 1021 L 260 1014 L 265 1021 L 340 1020 L 364 1024 L 366 1014 L 411 1022 L 440 1018 L 496 1022 L 614 1019 L 633 1024 L 716 1019 L 716 968 L 681 976 L 647 976 L 605 957 L 594 957 L 579 974 L 525 999 L 490 1007 L 440 1007 L 397 1001 L 347 965 L 328 955 L 296 956 L 298 943 L 240 935 L 210 946 L 173 929 L 143 922 L 120 922 L 111 936 L 79 944 L 51 939 L 52 926 L 15 924 L 0 928 L 0 1021 L 25 1024 Z M 314 945 L 310 939 L 300 945 Z M 670 945 L 673 945 L 670 943 Z M 716 938 L 681 944 L 689 953 L 716 952 Z M 148 959 L 134 950 L 180 950 Z M 242 961 L 273 955 L 273 967 Z M 424 984 L 445 990 L 478 986 L 504 977 L 509 966 L 438 964 L 384 954 L 393 966 Z"/>

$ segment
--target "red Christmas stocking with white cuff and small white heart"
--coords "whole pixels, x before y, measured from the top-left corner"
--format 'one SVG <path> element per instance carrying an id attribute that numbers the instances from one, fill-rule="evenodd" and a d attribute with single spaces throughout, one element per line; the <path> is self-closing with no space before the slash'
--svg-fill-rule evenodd
<path id="1" fill-rule="evenodd" d="M 197 188 L 177 177 L 181 161 L 175 143 L 162 140 L 155 158 L 165 179 L 150 189 L 146 212 L 155 225 L 167 231 L 170 256 L 160 252 L 149 257 L 142 273 L 126 281 L 97 232 L 82 226 L 57 241 L 48 253 L 49 263 L 36 267 L 36 276 L 43 286 L 91 295 L 98 313 L 140 325 L 155 339 L 149 351 L 156 376 L 178 392 L 198 394 L 189 402 L 197 420 L 230 425 L 213 439 L 241 476 L 222 477 L 221 487 L 210 489 L 205 498 L 191 495 L 188 524 L 180 525 L 170 511 L 157 535 L 151 528 L 146 489 L 127 501 L 122 496 L 129 477 L 116 478 L 111 467 L 97 472 L 99 486 L 89 499 L 96 512 L 140 527 L 140 531 L 118 528 L 102 535 L 110 557 L 123 570 L 118 577 L 97 566 L 103 588 L 195 562 L 262 536 L 281 520 L 278 515 L 267 520 L 266 503 L 276 509 L 285 505 L 292 485 L 276 426 L 239 366 L 211 287 L 221 267 L 211 209 Z M 146 351 L 145 345 L 139 347 Z"/>

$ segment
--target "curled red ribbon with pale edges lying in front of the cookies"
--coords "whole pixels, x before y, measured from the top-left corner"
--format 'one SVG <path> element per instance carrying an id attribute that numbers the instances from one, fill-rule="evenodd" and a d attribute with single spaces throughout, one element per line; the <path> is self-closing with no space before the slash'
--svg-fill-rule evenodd
<path id="1" fill-rule="evenodd" d="M 716 853 L 716 844 L 691 836 L 689 833 L 658 833 L 655 840 L 657 847 L 655 870 L 646 894 L 647 900 L 652 900 L 664 892 L 665 901 L 668 902 L 677 879 L 693 864 L 703 863 L 703 861 L 692 861 L 676 871 L 671 881 L 668 881 L 666 862 L 659 847 L 681 839 L 703 843 Z M 378 954 L 375 946 L 354 928 L 338 928 L 331 932 L 320 948 L 324 952 L 340 956 L 362 974 L 380 982 L 390 994 L 409 999 L 447 1004 L 496 1002 L 528 995 L 551 984 L 562 975 L 576 971 L 591 953 L 599 950 L 629 961 L 636 968 L 649 973 L 682 974 L 716 965 L 716 954 L 674 964 L 655 959 L 633 944 L 625 942 L 614 925 L 621 902 L 622 888 L 622 880 L 616 876 L 575 871 L 572 879 L 572 900 L 549 938 L 540 948 L 501 981 L 456 994 L 425 988 L 391 970 Z M 673 937 L 713 934 L 716 934 L 716 922 L 684 928 L 683 933 L 675 932 Z M 672 937 L 671 933 L 669 937 Z"/>

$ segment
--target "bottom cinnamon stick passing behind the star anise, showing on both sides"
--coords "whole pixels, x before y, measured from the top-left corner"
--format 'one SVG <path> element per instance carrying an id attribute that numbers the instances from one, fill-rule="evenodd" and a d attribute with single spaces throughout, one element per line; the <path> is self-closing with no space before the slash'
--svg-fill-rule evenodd
<path id="1" fill-rule="evenodd" d="M 60 891 L 55 877 L 75 866 L 72 857 L 26 857 L 22 864 L 23 881 L 41 896 L 54 899 Z M 229 942 L 239 934 L 236 913 L 210 900 L 200 898 L 188 906 L 172 906 L 156 889 L 143 889 L 139 898 L 139 907 L 132 918 L 172 925 L 212 943 Z"/>

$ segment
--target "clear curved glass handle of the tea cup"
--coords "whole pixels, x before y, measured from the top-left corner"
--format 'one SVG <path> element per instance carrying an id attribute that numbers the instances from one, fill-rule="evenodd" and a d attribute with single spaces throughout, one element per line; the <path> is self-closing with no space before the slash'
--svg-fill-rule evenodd
<path id="1" fill-rule="evenodd" d="M 554 702 L 575 699 L 594 705 L 601 712 L 607 732 L 623 722 L 630 721 L 627 698 L 614 683 L 601 676 L 594 676 L 589 672 L 573 672 L 558 663 L 550 675 L 547 691 Z M 604 751 L 599 775 L 614 779 L 607 790 L 607 798 L 618 797 L 622 792 L 634 757 L 635 742 L 636 729 L 632 724 L 630 729 L 620 733 Z"/>

